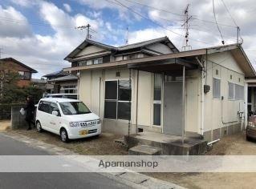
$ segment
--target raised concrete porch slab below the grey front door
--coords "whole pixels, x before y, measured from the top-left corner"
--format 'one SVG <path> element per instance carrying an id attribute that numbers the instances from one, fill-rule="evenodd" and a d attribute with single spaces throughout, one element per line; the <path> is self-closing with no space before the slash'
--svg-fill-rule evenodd
<path id="1" fill-rule="evenodd" d="M 141 147 L 159 150 L 159 155 L 203 155 L 207 151 L 207 142 L 202 139 L 182 136 L 166 135 L 151 131 L 140 132 L 137 135 L 125 135 L 124 142 L 130 151 L 137 151 L 137 155 L 145 155 Z M 141 146 L 140 146 L 141 145 Z M 140 150 L 136 150 L 140 146 Z M 135 147 L 135 148 L 134 148 Z"/>

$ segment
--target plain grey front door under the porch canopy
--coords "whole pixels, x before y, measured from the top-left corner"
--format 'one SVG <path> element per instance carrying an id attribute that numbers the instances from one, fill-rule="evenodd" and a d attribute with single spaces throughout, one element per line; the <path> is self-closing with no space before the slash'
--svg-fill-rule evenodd
<path id="1" fill-rule="evenodd" d="M 163 132 L 182 135 L 182 82 L 165 82 Z"/>

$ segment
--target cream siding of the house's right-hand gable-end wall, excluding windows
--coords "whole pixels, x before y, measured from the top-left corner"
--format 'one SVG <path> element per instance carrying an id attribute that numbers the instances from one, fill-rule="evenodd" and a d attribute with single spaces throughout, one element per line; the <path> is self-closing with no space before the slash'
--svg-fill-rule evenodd
<path id="1" fill-rule="evenodd" d="M 215 62 L 215 63 L 213 63 Z M 218 66 L 221 65 L 221 66 Z M 212 54 L 208 56 L 206 84 L 211 87 L 208 94 L 205 94 L 205 131 L 211 131 L 221 127 L 228 127 L 234 123 L 228 123 L 238 119 L 238 111 L 244 110 L 244 100 L 228 99 L 228 82 L 245 85 L 245 77 L 242 70 L 228 52 Z M 218 74 L 216 74 L 218 70 Z M 232 79 L 230 79 L 232 74 Z M 221 96 L 223 99 L 221 120 L 221 99 L 213 99 L 213 77 L 221 79 Z M 240 82 L 239 82 L 240 78 Z M 240 106 L 240 108 L 239 108 Z"/>

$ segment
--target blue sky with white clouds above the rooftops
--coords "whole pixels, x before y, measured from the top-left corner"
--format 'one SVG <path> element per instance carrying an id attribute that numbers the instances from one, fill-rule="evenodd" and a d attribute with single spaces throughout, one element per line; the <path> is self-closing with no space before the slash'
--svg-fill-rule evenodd
<path id="1" fill-rule="evenodd" d="M 221 34 L 226 44 L 236 42 L 238 24 L 242 30 L 243 46 L 254 63 L 254 1 L 224 1 L 230 14 L 221 0 L 215 0 Z M 2 58 L 17 58 L 39 70 L 36 78 L 61 70 L 70 66 L 63 58 L 86 36 L 85 30 L 77 30 L 75 26 L 87 23 L 91 25 L 91 35 L 95 41 L 120 46 L 125 44 L 127 36 L 128 43 L 133 43 L 166 35 L 181 50 L 185 44 L 182 14 L 188 3 L 189 14 L 193 15 L 189 22 L 189 44 L 193 49 L 221 45 L 211 0 L 0 0 Z"/>

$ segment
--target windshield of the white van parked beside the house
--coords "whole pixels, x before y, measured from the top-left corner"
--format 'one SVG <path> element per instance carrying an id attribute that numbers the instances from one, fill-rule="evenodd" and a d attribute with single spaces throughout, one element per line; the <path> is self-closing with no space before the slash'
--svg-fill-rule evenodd
<path id="1" fill-rule="evenodd" d="M 91 111 L 82 102 L 59 103 L 64 115 L 83 115 Z"/>

